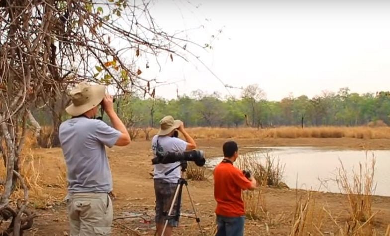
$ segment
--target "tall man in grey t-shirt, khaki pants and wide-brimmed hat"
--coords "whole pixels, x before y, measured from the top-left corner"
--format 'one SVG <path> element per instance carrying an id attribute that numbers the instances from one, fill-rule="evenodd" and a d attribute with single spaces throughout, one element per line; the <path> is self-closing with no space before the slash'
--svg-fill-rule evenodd
<path id="1" fill-rule="evenodd" d="M 105 146 L 125 146 L 130 136 L 103 85 L 79 83 L 70 92 L 72 116 L 60 125 L 59 138 L 69 182 L 67 210 L 71 236 L 109 235 L 112 224 L 111 170 Z M 99 105 L 114 128 L 93 119 Z"/>

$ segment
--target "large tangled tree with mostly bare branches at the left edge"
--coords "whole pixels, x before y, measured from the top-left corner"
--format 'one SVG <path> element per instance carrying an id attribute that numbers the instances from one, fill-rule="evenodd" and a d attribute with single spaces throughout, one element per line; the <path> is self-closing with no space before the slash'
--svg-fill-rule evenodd
<path id="1" fill-rule="evenodd" d="M 40 129 L 30 109 L 52 109 L 58 116 L 56 132 L 59 110 L 66 105 L 61 94 L 73 84 L 105 83 L 121 94 L 138 89 L 153 95 L 156 81 L 144 79 L 133 59 L 167 53 L 171 60 L 187 60 L 186 55 L 193 55 L 186 51 L 192 42 L 158 27 L 149 13 L 151 1 L 131 2 L 0 0 L 0 151 L 6 166 L 6 178 L 0 179 L 0 217 L 11 219 L 3 235 L 22 235 L 34 218 L 23 183 L 24 201 L 9 204 L 16 182 L 23 182 L 19 158 L 27 123 L 38 133 Z M 113 46 L 119 41 L 126 42 L 120 49 Z"/>

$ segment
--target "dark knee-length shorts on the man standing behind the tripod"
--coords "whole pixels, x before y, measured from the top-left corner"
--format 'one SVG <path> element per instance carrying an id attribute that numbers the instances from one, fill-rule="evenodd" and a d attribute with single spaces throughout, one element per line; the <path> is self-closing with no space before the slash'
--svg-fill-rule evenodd
<path id="1" fill-rule="evenodd" d="M 154 179 L 154 187 L 156 196 L 155 222 L 156 224 L 165 224 L 166 216 L 168 215 L 170 205 L 175 195 L 177 183 L 169 183 L 163 179 Z M 175 214 L 176 206 L 177 199 L 171 215 Z M 172 217 L 169 219 L 168 224 L 172 227 L 177 227 L 179 222 L 178 220 L 174 219 L 174 217 Z"/>

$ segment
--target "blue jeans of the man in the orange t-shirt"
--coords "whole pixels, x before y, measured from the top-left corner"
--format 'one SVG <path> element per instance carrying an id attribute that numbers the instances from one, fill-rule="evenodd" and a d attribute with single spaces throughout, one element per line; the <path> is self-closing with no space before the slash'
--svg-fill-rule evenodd
<path id="1" fill-rule="evenodd" d="M 217 215 L 215 236 L 244 236 L 245 216 L 226 217 Z"/>

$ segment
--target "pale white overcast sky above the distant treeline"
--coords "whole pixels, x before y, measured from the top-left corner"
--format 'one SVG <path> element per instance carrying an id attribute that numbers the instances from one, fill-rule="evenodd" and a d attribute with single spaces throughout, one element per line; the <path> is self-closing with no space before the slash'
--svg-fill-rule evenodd
<path id="1" fill-rule="evenodd" d="M 389 11 L 390 2 L 379 0 L 159 0 L 151 14 L 167 32 L 204 25 L 181 34 L 202 45 L 222 29 L 212 50 L 187 49 L 223 83 L 257 83 L 267 99 L 280 100 L 289 93 L 312 97 L 341 87 L 358 93 L 390 90 Z M 159 60 L 161 72 L 155 63 L 149 69 L 140 65 L 146 78 L 175 82 L 158 87 L 157 96 L 175 98 L 176 89 L 179 95 L 197 89 L 229 94 L 195 59 Z"/>

